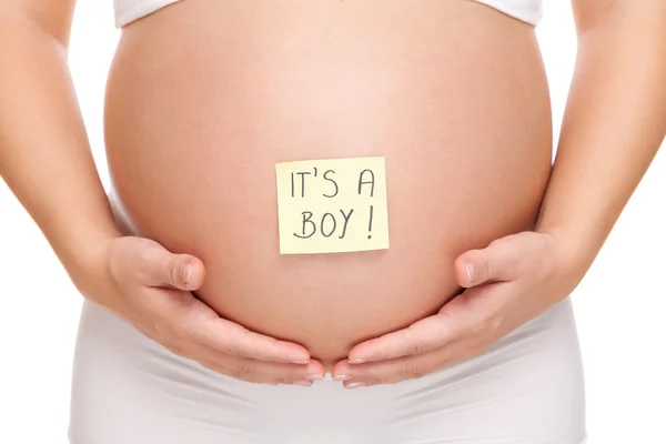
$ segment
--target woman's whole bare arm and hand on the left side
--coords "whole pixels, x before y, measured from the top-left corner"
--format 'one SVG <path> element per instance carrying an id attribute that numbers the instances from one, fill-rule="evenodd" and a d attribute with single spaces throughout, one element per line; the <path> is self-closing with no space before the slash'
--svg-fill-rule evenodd
<path id="1" fill-rule="evenodd" d="M 0 70 L 0 175 L 88 300 L 230 376 L 310 384 L 324 369 L 304 347 L 249 332 L 192 296 L 205 275 L 200 260 L 123 235 L 67 65 L 73 8 L 72 0 L 0 6 L 0 57 L 12 60 Z"/>

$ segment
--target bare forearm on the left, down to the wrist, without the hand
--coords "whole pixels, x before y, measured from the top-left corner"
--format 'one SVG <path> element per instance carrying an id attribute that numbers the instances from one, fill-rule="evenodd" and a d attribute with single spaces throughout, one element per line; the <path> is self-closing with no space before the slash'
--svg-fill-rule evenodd
<path id="1" fill-rule="evenodd" d="M 67 64 L 67 50 L 24 18 L 0 18 L 0 175 L 65 269 L 118 235 Z"/>

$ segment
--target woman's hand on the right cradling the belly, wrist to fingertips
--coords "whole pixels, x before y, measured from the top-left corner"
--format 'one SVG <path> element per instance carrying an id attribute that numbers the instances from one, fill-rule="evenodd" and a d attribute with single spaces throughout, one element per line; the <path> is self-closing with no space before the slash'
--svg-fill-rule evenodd
<path id="1" fill-rule="evenodd" d="M 549 233 L 522 232 L 461 254 L 466 290 L 437 314 L 354 346 L 333 367 L 347 389 L 416 379 L 472 357 L 564 300 L 585 270 Z"/>

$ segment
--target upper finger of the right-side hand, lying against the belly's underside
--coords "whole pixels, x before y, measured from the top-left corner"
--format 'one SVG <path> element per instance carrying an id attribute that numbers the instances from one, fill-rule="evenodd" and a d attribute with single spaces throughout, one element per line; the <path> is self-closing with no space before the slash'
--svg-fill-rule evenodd
<path id="1" fill-rule="evenodd" d="M 354 346 L 350 351 L 349 362 L 363 364 L 427 353 L 458 340 L 468 325 L 470 316 L 448 316 L 445 312 L 441 312 L 404 330 Z"/>

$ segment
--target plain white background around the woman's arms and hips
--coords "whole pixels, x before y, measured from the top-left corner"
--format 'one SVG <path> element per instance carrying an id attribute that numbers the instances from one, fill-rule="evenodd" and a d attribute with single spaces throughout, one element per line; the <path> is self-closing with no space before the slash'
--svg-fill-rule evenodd
<path id="1" fill-rule="evenodd" d="M 102 104 L 119 37 L 111 8 L 111 0 L 79 1 L 70 51 L 104 184 Z M 557 133 L 576 50 L 569 2 L 546 1 L 537 32 Z M 574 293 L 589 444 L 666 443 L 665 208 L 666 152 L 662 152 Z M 81 296 L 1 181 L 0 279 L 0 443 L 65 444 Z"/>

